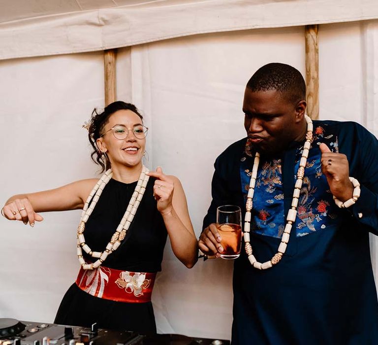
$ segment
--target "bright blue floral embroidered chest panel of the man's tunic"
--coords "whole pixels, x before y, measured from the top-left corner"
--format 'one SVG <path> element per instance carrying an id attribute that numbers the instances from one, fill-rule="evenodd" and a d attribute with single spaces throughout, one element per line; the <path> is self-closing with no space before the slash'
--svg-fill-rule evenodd
<path id="1" fill-rule="evenodd" d="M 297 237 L 326 229 L 336 223 L 337 207 L 332 199 L 325 176 L 321 172 L 320 149 L 324 142 L 333 152 L 339 152 L 338 138 L 327 133 L 327 125 L 314 126 L 314 139 L 305 169 L 295 222 Z M 296 151 L 295 168 L 298 171 L 303 146 Z M 241 158 L 242 192 L 246 200 L 254 153 L 249 141 Z M 257 172 L 252 209 L 251 230 L 266 236 L 281 238 L 284 232 L 284 192 L 282 161 L 279 158 L 262 162 Z M 296 176 L 293 176 L 295 179 Z"/>

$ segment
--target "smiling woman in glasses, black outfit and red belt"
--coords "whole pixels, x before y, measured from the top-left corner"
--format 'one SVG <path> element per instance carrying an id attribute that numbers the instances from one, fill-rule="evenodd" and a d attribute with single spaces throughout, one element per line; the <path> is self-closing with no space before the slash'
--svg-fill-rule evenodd
<path id="1" fill-rule="evenodd" d="M 43 220 L 38 212 L 83 208 L 77 230 L 81 269 L 56 323 L 156 333 L 151 292 L 167 235 L 185 266 L 197 260 L 179 179 L 142 164 L 147 130 L 133 104 L 109 104 L 89 125 L 92 159 L 108 169 L 100 179 L 15 195 L 1 210 L 9 220 L 34 226 Z"/>

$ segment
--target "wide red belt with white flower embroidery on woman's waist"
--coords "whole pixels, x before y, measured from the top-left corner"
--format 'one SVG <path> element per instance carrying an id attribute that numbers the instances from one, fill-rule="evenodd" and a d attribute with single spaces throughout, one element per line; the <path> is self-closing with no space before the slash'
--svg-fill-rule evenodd
<path id="1" fill-rule="evenodd" d="M 76 285 L 92 296 L 117 302 L 151 301 L 156 273 L 114 270 L 99 266 L 93 270 L 80 268 Z"/>

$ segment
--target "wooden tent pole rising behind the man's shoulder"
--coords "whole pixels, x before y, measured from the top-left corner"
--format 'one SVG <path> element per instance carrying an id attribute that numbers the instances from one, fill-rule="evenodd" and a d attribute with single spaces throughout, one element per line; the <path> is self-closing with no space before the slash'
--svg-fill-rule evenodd
<path id="1" fill-rule="evenodd" d="M 318 25 L 306 25 L 306 100 L 307 114 L 319 118 L 319 45 Z"/>

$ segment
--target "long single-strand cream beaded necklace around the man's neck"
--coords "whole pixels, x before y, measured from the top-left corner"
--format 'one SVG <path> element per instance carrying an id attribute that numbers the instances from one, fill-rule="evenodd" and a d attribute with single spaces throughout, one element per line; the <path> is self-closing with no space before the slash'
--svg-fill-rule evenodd
<path id="1" fill-rule="evenodd" d="M 253 193 L 254 193 L 254 185 L 256 183 L 258 164 L 260 161 L 260 154 L 256 152 L 254 156 L 250 188 L 248 190 L 247 202 L 246 202 L 246 216 L 244 218 L 244 241 L 246 243 L 245 244 L 246 253 L 248 255 L 248 259 L 250 260 L 251 265 L 253 265 L 253 267 L 259 270 L 266 270 L 280 262 L 286 250 L 287 242 L 289 242 L 291 227 L 295 223 L 295 218 L 297 216 L 298 199 L 300 195 L 300 190 L 302 188 L 302 181 L 303 181 L 303 176 L 305 174 L 305 167 L 307 163 L 307 157 L 309 155 L 309 149 L 311 146 L 311 141 L 313 139 L 313 121 L 311 121 L 311 118 L 307 115 L 305 115 L 305 119 L 307 123 L 306 142 L 303 146 L 301 160 L 299 161 L 297 180 L 295 182 L 291 208 L 289 209 L 289 212 L 287 213 L 287 217 L 286 217 L 286 225 L 284 228 L 284 234 L 282 236 L 280 246 L 278 247 L 278 252 L 272 257 L 271 260 L 266 261 L 264 263 L 258 262 L 256 258 L 253 256 L 252 246 L 250 243 L 251 210 L 252 210 L 252 204 L 253 204 L 252 199 L 253 199 Z"/>

